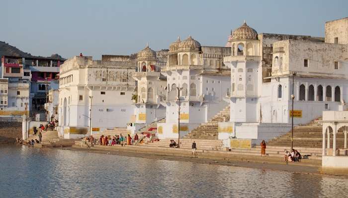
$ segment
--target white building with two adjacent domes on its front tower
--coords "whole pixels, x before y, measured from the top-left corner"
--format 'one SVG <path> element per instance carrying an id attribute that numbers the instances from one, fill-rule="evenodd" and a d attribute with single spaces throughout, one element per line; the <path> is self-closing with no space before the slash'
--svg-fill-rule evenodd
<path id="1" fill-rule="evenodd" d="M 201 46 L 190 36 L 170 45 L 161 70 L 167 76 L 167 100 L 162 102 L 166 123 L 157 125 L 160 139 L 177 138 L 178 108 L 183 136 L 228 105 L 224 98 L 230 93 L 231 71 L 223 58 L 230 55 L 230 48 Z"/>

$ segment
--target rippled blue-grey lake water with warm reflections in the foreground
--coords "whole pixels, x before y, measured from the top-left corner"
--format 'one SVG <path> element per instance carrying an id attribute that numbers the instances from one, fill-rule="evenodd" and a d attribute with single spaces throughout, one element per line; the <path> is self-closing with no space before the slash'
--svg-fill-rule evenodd
<path id="1" fill-rule="evenodd" d="M 0 197 L 347 198 L 348 179 L 0 145 Z"/>

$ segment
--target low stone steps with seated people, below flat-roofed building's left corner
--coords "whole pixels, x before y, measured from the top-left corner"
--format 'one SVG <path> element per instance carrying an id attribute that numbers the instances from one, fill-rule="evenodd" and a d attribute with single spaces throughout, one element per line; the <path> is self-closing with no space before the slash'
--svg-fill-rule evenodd
<path id="1" fill-rule="evenodd" d="M 39 132 L 35 135 L 29 134 L 28 140 L 39 140 Z M 63 139 L 58 137 L 58 131 L 43 131 L 41 144 L 35 144 L 37 147 L 71 147 L 76 139 Z"/>

